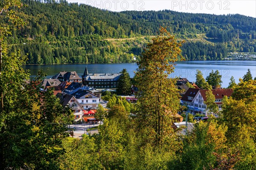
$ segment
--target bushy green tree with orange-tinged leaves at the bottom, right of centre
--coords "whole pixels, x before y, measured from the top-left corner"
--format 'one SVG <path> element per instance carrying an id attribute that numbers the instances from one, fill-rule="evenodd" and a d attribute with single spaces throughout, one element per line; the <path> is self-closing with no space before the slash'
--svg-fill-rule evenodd
<path id="1" fill-rule="evenodd" d="M 176 169 L 202 170 L 215 166 L 215 155 L 222 153 L 225 148 L 225 133 L 227 127 L 212 121 L 209 124 L 199 122 L 195 124 L 193 133 L 184 138 L 181 162 Z"/>

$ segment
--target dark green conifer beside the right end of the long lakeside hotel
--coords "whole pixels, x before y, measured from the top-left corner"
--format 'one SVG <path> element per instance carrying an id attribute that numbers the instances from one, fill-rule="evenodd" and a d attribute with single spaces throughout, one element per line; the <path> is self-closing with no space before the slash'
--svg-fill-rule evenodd
<path id="1" fill-rule="evenodd" d="M 120 78 L 118 80 L 116 93 L 117 95 L 130 95 L 131 94 L 131 78 L 126 69 L 120 72 Z"/>

